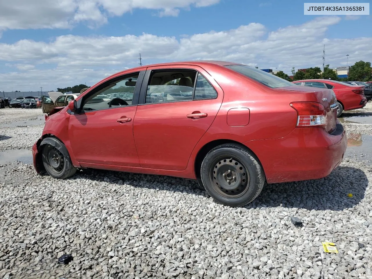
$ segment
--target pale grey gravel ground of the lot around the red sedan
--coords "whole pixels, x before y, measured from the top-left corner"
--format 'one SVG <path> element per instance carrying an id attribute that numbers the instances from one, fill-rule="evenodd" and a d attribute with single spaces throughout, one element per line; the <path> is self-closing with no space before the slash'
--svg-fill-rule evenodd
<path id="1" fill-rule="evenodd" d="M 1 109 L 0 153 L 30 149 L 40 115 Z M 372 104 L 345 115 L 372 116 Z M 241 208 L 173 177 L 83 170 L 55 180 L 1 165 L 0 278 L 372 279 L 372 125 L 344 126 L 350 147 L 328 177 L 268 185 Z M 58 264 L 65 253 L 73 261 Z"/>

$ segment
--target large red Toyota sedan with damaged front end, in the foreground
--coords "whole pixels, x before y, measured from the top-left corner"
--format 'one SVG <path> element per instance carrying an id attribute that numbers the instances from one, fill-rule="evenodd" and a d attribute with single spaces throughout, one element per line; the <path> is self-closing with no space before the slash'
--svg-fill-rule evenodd
<path id="1" fill-rule="evenodd" d="M 266 182 L 318 179 L 336 168 L 346 150 L 336 112 L 332 90 L 246 65 L 142 66 L 54 108 L 33 163 L 57 179 L 77 168 L 184 177 L 216 201 L 242 206 Z"/>

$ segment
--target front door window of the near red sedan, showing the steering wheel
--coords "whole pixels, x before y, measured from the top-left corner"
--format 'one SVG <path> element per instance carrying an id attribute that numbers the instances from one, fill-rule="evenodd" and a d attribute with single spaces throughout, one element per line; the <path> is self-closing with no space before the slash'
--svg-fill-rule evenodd
<path id="1" fill-rule="evenodd" d="M 101 110 L 132 105 L 139 74 L 139 72 L 128 74 L 118 81 L 108 82 L 104 88 L 84 99 L 83 110 Z"/>

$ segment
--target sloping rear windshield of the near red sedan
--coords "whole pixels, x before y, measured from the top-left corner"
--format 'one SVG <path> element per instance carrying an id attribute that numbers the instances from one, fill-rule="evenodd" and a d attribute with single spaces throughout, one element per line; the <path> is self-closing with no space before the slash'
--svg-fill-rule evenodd
<path id="1" fill-rule="evenodd" d="M 262 71 L 262 70 L 259 70 L 259 69 L 256 69 L 250 66 L 227 65 L 225 67 L 237 73 L 243 74 L 244 76 L 247 76 L 271 88 L 295 86 L 295 84 L 289 82 L 288 80 L 283 80 L 283 78 L 277 77 L 273 74 L 266 73 L 265 71 Z"/>

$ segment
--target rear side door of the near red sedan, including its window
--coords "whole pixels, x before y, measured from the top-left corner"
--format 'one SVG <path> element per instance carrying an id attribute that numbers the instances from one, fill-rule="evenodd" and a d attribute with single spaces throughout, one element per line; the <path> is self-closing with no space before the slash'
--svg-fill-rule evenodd
<path id="1" fill-rule="evenodd" d="M 217 115 L 222 89 L 199 67 L 155 67 L 147 75 L 133 127 L 141 167 L 184 170 Z"/>

